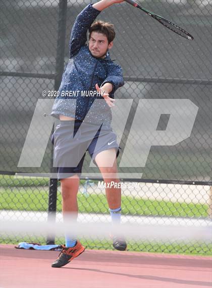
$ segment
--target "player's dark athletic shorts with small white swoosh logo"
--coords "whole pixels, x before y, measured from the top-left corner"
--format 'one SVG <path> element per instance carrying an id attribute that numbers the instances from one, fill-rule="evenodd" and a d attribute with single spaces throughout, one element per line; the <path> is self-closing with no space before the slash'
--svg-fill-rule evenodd
<path id="1" fill-rule="evenodd" d="M 116 148 L 118 157 L 120 148 L 110 126 L 80 120 L 61 120 L 52 134 L 51 142 L 54 144 L 58 180 L 75 174 L 80 177 L 86 151 L 95 163 L 95 156 L 99 152 Z"/>

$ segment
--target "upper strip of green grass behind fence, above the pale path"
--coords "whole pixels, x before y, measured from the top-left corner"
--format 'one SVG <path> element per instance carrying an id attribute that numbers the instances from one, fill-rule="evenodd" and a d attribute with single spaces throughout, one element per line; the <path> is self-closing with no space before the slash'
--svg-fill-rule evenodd
<path id="1" fill-rule="evenodd" d="M 48 187 L 1 188 L 1 209 L 47 211 Z M 108 214 L 107 199 L 104 194 L 89 194 L 88 197 L 78 193 L 78 205 L 81 213 Z M 61 211 L 61 194 L 58 193 L 57 210 Z M 151 215 L 173 217 L 207 217 L 206 204 L 157 201 L 132 196 L 122 196 L 122 214 Z"/>

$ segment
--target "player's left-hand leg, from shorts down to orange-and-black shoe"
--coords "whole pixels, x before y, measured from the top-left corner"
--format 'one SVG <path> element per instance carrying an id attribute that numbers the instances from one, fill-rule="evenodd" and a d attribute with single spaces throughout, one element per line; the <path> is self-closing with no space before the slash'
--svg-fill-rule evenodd
<path id="1" fill-rule="evenodd" d="M 75 163 L 76 155 L 79 155 L 81 145 L 77 140 L 72 139 L 73 129 L 77 131 L 81 123 L 73 121 L 61 121 L 56 129 L 56 141 L 52 138 L 52 144 L 55 143 L 55 160 L 58 172 L 58 179 L 61 180 L 62 192 L 62 211 L 64 222 L 68 223 L 70 218 L 77 220 L 78 205 L 77 192 L 79 189 L 80 174 L 85 157 L 79 161 L 77 167 L 70 167 L 68 164 Z M 76 239 L 74 231 L 66 231 L 66 244 L 61 245 L 62 251 L 58 259 L 52 263 L 51 267 L 62 267 L 79 256 L 85 248 Z"/>

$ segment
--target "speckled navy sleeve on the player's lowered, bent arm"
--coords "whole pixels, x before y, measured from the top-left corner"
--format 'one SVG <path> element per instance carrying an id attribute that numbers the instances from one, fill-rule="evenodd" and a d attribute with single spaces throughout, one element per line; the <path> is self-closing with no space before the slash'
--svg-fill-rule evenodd
<path id="1" fill-rule="evenodd" d="M 113 85 L 113 90 L 111 91 L 111 93 L 114 93 L 119 87 L 122 87 L 124 85 L 121 66 L 116 64 L 109 66 L 107 77 L 104 79 L 101 86 L 103 86 L 107 82 Z"/>

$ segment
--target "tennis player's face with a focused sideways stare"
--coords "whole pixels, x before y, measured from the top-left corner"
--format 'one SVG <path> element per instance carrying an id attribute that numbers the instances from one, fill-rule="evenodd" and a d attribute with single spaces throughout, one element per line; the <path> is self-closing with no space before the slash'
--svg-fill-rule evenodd
<path id="1" fill-rule="evenodd" d="M 88 48 L 93 57 L 104 58 L 108 49 L 113 47 L 113 42 L 108 43 L 108 38 L 102 33 L 91 32 Z"/>

